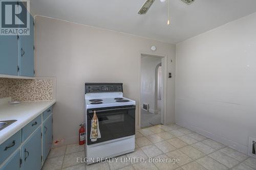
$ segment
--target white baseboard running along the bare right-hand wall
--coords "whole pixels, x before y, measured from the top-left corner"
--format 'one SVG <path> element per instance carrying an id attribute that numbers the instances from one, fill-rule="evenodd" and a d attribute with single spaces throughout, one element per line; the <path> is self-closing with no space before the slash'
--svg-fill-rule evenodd
<path id="1" fill-rule="evenodd" d="M 228 147 L 234 149 L 234 150 L 237 150 L 239 152 L 242 152 L 246 155 L 248 155 L 248 147 L 246 145 L 243 145 L 243 144 L 240 144 L 240 143 L 237 143 L 233 140 L 230 140 L 230 139 L 227 139 L 225 138 L 224 136 L 220 136 L 218 134 L 215 134 L 215 133 L 212 133 L 212 132 L 208 132 L 208 131 L 205 131 L 199 127 L 196 127 L 196 126 L 193 126 L 193 125 L 189 125 L 187 123 L 181 123 L 181 122 L 176 122 L 177 125 L 180 125 L 182 127 L 185 127 L 189 130 L 193 130 L 203 136 L 206 136 L 212 140 L 216 140 L 224 145 L 227 145 Z"/>

